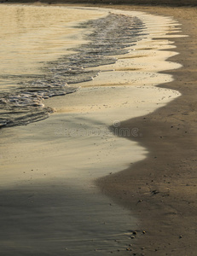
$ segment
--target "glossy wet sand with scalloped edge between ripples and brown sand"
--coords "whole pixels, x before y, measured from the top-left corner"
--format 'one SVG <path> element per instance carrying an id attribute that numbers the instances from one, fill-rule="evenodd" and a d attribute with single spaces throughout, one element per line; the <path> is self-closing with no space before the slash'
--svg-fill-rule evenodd
<path id="1" fill-rule="evenodd" d="M 26 8 L 37 10 L 37 14 L 45 9 L 37 6 L 22 9 Z M 65 15 L 69 9 L 64 10 Z M 84 15 L 81 7 L 73 9 Z M 98 10 L 99 15 L 109 12 Z M 90 12 L 96 14 L 95 11 Z M 114 13 L 130 15 L 119 10 Z M 107 127 L 114 124 L 116 130 L 117 119 L 122 122 L 130 116 L 150 113 L 158 108 L 158 102 L 159 106 L 165 106 L 179 96 L 177 91 L 154 87 L 159 81 L 171 81 L 171 75 L 157 71 L 179 65 L 165 61 L 168 56 L 176 55 L 167 50 L 174 49 L 171 42 L 153 38 L 165 37 L 166 31 L 174 32 L 171 26 L 177 24 L 171 18 L 142 12 L 132 14 L 140 15 L 148 24 L 144 29 L 148 36 L 142 35 L 135 46 L 130 46 L 128 54 L 117 55 L 117 62 L 101 67 L 103 72 L 90 83 L 81 83 L 82 88 L 75 93 L 45 100 L 45 106 L 56 108 L 49 119 L 2 130 L 0 250 L 3 255 L 92 256 L 99 252 L 127 255 L 130 229 L 137 228 L 136 218 L 129 209 L 113 204 L 94 181 L 127 168 L 130 161 L 144 159 L 147 150 L 113 136 Z M 156 20 L 159 24 L 155 24 Z M 136 65 L 134 70 L 133 65 Z M 17 221 L 10 222 L 16 215 Z"/>

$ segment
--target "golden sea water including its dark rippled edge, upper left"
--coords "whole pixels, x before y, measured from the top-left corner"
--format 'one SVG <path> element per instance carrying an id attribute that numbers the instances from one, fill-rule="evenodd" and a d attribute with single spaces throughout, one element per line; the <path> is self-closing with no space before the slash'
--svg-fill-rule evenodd
<path id="1" fill-rule="evenodd" d="M 3 38 L 5 47 L 0 67 L 0 86 L 6 91 L 0 95 L 0 106 L 3 110 L 0 113 L 0 127 L 26 125 L 48 117 L 53 109 L 44 108 L 44 99 L 72 93 L 78 90 L 73 84 L 94 79 L 99 75 L 99 66 L 117 61 L 116 58 L 110 57 L 111 55 L 128 52 L 126 48 L 139 40 L 144 27 L 139 18 L 119 14 L 107 14 L 80 25 L 74 26 L 72 23 L 71 26 L 73 17 L 82 15 L 79 9 L 67 9 L 69 15 L 66 20 L 63 19 L 62 9 L 52 9 L 52 20 L 47 16 L 50 8 L 46 8 L 44 12 L 43 8 L 5 7 L 5 10 L 9 9 L 13 11 L 14 19 L 4 20 L 4 16 L 8 14 L 1 8 L 3 28 L 0 37 Z M 58 10 L 62 17 L 59 16 Z M 67 12 L 64 10 L 64 15 Z M 41 20 L 39 16 L 42 17 Z M 6 32 L 5 26 L 9 27 L 9 32 Z M 61 47 L 67 47 L 64 40 L 71 39 L 69 28 L 75 35 L 78 31 L 85 30 L 84 40 L 87 43 L 82 44 L 80 48 L 72 48 L 75 53 L 66 55 L 67 50 L 60 48 L 59 44 Z M 82 36 L 75 38 L 74 43 L 80 37 Z M 48 55 L 54 61 L 48 61 L 48 55 L 45 56 L 48 49 Z M 41 55 L 38 55 L 40 51 Z M 98 67 L 98 70 L 87 70 L 90 67 Z M 68 86 L 69 84 L 72 86 Z"/>

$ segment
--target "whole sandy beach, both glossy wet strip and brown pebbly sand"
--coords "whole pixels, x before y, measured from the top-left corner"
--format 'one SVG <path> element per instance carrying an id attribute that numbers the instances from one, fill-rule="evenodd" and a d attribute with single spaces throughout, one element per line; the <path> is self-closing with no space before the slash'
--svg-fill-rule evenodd
<path id="1" fill-rule="evenodd" d="M 112 9 L 112 5 L 98 7 Z M 68 248 L 62 251 L 64 242 L 60 241 L 64 234 L 64 228 L 60 225 L 67 227 L 64 216 L 69 206 L 78 206 L 76 212 L 88 209 L 86 213 L 80 213 L 82 219 L 87 216 L 92 218 L 95 213 L 92 215 L 91 211 L 98 212 L 95 221 L 100 224 L 95 226 L 95 230 L 90 227 L 92 236 L 101 236 L 102 232 L 104 234 L 106 230 L 111 230 L 109 236 L 116 234 L 118 237 L 110 237 L 105 247 L 101 237 L 97 237 L 93 247 L 104 249 L 94 253 L 196 255 L 194 24 L 197 10 L 124 5 L 113 6 L 113 9 L 164 15 L 160 16 L 159 24 L 167 24 L 168 18 L 165 20 L 165 16 L 171 16 L 182 24 L 181 31 L 177 32 L 171 27 L 176 22 L 173 24 L 169 21 L 170 25 L 166 25 L 168 30 L 163 28 L 169 36 L 165 35 L 164 38 L 164 34 L 159 34 L 159 29 L 162 30 L 160 26 L 158 34 L 151 40 L 139 41 L 134 46 L 136 53 L 131 51 L 127 58 L 119 55 L 116 64 L 101 67 L 103 72 L 98 79 L 93 80 L 93 85 L 84 82 L 76 93 L 47 100 L 45 105 L 55 108 L 55 113 L 49 119 L 2 130 L 1 158 L 5 168 L 1 172 L 3 210 L 11 205 L 9 215 L 14 212 L 15 218 L 19 218 L 22 215 L 20 211 L 17 213 L 18 207 L 17 204 L 14 207 L 14 201 L 20 201 L 23 217 L 27 220 L 32 216 L 31 225 L 36 224 L 38 228 L 40 224 L 41 240 L 45 237 L 45 243 L 39 247 L 38 240 L 32 240 L 36 229 L 28 232 L 26 228 L 27 233 L 22 233 L 21 241 L 26 234 L 32 235 L 25 239 L 26 247 L 18 243 L 17 251 L 14 236 L 18 234 L 17 228 L 24 231 L 22 227 L 26 226 L 26 221 L 21 218 L 12 231 L 13 237 L 9 239 L 8 235 L 4 239 L 3 255 L 21 255 L 21 248 L 24 255 L 28 255 L 28 247 L 38 247 L 32 252 L 36 255 L 54 255 L 57 245 L 53 243 L 55 240 L 60 242 L 59 255 L 70 255 L 74 243 L 70 242 Z M 136 58 L 136 62 L 130 64 L 126 61 L 132 58 Z M 135 79 L 130 79 L 125 68 L 134 68 Z M 124 84 L 111 69 L 121 73 L 125 79 Z M 143 85 L 142 80 L 145 81 Z M 87 95 L 90 99 L 87 99 Z M 140 106 L 142 108 L 136 110 Z M 126 137 L 122 131 L 128 131 Z M 12 138 L 11 143 L 9 138 Z M 78 170 L 83 170 L 81 175 Z M 91 198 L 91 193 L 96 194 L 96 201 Z M 6 201 L 9 202 L 8 206 Z M 66 201 L 70 205 L 65 208 Z M 101 217 L 106 206 L 114 207 L 114 216 L 111 210 Z M 32 215 L 24 210 L 26 207 L 33 210 Z M 47 212 L 50 212 L 49 215 Z M 101 219 L 98 221 L 98 218 Z M 2 223 L 3 219 L 6 219 L 6 215 L 1 216 Z M 41 219 L 45 219 L 44 224 L 40 222 Z M 55 224 L 51 226 L 53 220 Z M 108 222 L 107 228 L 101 231 L 101 223 L 105 222 Z M 12 230 L 11 224 L 9 227 Z M 114 228 L 116 225 L 117 229 Z M 46 236 L 46 233 L 53 230 L 55 237 Z M 76 230 L 78 227 L 72 230 L 73 237 L 76 236 Z M 121 232 L 124 234 L 119 236 Z M 84 236 L 83 229 L 79 232 L 80 236 Z M 3 233 L 1 237 L 3 240 Z M 116 239 L 122 240 L 121 246 L 117 245 Z M 50 241 L 50 247 L 47 240 Z M 82 243 L 79 247 L 81 255 L 94 255 L 93 247 L 84 253 Z M 12 254 L 14 250 L 18 254 Z"/>

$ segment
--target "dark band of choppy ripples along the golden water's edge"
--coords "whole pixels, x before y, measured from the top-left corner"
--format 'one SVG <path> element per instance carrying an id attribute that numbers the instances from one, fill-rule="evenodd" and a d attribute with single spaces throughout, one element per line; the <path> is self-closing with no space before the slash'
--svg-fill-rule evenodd
<path id="1" fill-rule="evenodd" d="M 100 71 L 90 70 L 91 67 L 115 63 L 117 59 L 113 55 L 128 53 L 127 47 L 145 35 L 142 20 L 111 13 L 105 18 L 81 23 L 78 27 L 90 30 L 86 35 L 88 44 L 74 49 L 76 53 L 73 55 L 46 62 L 43 76 L 21 76 L 17 89 L 0 95 L 0 128 L 46 119 L 53 109 L 44 107 L 44 99 L 75 92 L 78 87 L 74 84 L 90 81 L 99 75 Z"/>

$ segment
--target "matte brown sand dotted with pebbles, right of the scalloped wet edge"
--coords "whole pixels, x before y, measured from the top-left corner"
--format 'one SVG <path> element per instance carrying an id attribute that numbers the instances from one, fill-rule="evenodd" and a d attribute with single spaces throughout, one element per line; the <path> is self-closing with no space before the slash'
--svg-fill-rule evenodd
<path id="1" fill-rule="evenodd" d="M 135 239 L 130 240 L 132 246 L 128 246 L 130 253 L 196 255 L 197 11 L 190 8 L 116 8 L 174 16 L 183 24 L 182 34 L 188 34 L 189 38 L 173 38 L 177 49 L 172 50 L 180 55 L 171 57 L 171 61 L 183 67 L 165 72 L 172 74 L 175 80 L 159 84 L 159 88 L 178 90 L 182 96 L 154 113 L 120 123 L 119 128 L 139 129 L 142 136 L 132 136 L 130 140 L 147 148 L 148 157 L 96 183 L 103 193 L 130 209 L 138 219 Z"/>

